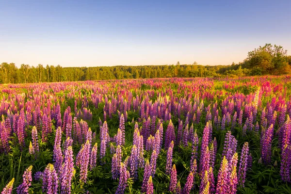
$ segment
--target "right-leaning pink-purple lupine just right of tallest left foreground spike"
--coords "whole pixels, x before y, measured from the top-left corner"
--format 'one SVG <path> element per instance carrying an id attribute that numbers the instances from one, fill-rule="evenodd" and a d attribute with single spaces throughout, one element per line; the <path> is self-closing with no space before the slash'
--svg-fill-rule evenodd
<path id="1" fill-rule="evenodd" d="M 83 144 L 81 150 L 76 157 L 76 165 L 80 168 L 80 181 L 87 181 L 88 165 L 90 160 L 90 143 L 87 140 L 86 144 Z"/>

